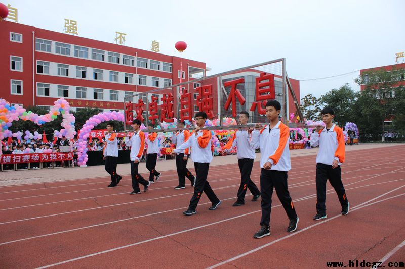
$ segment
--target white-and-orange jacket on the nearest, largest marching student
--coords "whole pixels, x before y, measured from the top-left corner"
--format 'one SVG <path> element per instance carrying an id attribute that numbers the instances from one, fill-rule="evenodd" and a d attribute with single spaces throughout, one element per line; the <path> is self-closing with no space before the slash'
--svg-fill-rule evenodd
<path id="1" fill-rule="evenodd" d="M 270 170 L 289 171 L 291 169 L 290 128 L 282 122 L 278 122 L 269 132 L 269 125 L 262 130 L 253 130 L 251 134 L 251 147 L 260 147 L 260 167 L 266 162 L 271 163 Z"/>

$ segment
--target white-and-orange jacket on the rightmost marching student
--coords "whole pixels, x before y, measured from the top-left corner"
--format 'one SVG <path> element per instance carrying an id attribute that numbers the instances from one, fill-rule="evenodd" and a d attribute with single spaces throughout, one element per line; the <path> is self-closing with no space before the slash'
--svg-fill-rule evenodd
<path id="1" fill-rule="evenodd" d="M 332 165 L 337 160 L 339 165 L 345 161 L 345 139 L 342 128 L 332 125 L 329 131 L 323 127 L 319 132 L 311 135 L 311 146 L 319 145 L 319 152 L 316 156 L 316 163 Z"/>

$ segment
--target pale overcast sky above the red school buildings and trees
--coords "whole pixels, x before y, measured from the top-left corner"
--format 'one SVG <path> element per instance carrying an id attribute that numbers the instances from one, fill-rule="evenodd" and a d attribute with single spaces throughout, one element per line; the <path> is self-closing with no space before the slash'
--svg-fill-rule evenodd
<path id="1" fill-rule="evenodd" d="M 79 36 L 113 42 L 127 33 L 126 45 L 206 62 L 208 75 L 286 58 L 291 78 L 306 80 L 395 64 L 405 51 L 405 1 L 28 1 L 8 0 L 18 22 L 62 32 L 64 19 L 76 20 Z M 319 97 L 349 83 L 354 72 L 301 81 L 301 98 Z"/>

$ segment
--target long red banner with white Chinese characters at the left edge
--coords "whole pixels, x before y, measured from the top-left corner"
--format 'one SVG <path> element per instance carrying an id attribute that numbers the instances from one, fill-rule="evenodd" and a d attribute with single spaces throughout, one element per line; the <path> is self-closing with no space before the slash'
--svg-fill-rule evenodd
<path id="1" fill-rule="evenodd" d="M 0 164 L 21 164 L 35 162 L 61 162 L 63 160 L 73 160 L 73 153 L 24 153 L 2 155 Z"/>

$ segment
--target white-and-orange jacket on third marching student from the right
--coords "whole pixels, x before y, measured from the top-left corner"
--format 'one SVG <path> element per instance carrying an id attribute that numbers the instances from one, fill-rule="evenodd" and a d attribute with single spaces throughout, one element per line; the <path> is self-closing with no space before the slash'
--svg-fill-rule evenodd
<path id="1" fill-rule="evenodd" d="M 250 145 L 250 136 L 248 130 L 236 131 L 232 139 L 224 146 L 226 150 L 231 150 L 237 146 L 237 158 L 238 159 L 255 159 L 256 153 Z"/>

